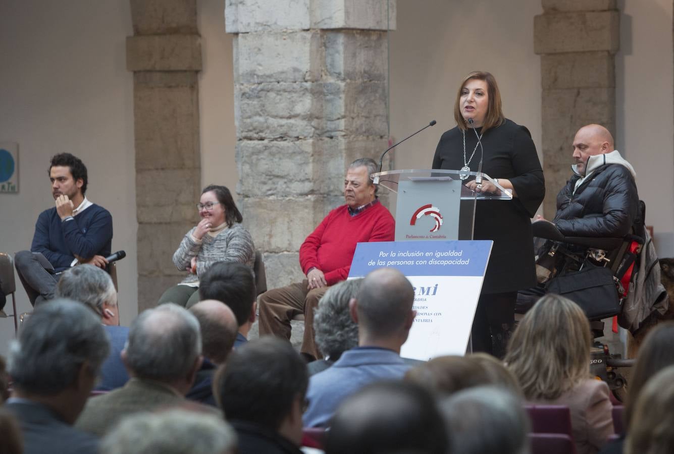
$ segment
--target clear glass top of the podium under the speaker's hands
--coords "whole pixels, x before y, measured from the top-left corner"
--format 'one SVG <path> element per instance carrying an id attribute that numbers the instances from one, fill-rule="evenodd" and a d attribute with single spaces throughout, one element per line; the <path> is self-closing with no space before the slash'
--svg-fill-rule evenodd
<path id="1" fill-rule="evenodd" d="M 505 189 L 489 175 L 482 172 L 464 172 L 462 170 L 440 170 L 440 169 L 405 169 L 405 170 L 388 170 L 386 172 L 377 172 L 371 175 L 372 181 L 375 184 L 386 187 L 393 193 L 398 193 L 398 183 L 400 181 L 462 181 L 467 183 L 473 181 L 477 176 L 482 176 L 483 180 L 487 180 L 499 191 L 495 193 L 483 193 L 472 191 L 464 184 L 461 185 L 461 199 L 478 199 L 478 200 L 511 200 L 512 191 Z"/>

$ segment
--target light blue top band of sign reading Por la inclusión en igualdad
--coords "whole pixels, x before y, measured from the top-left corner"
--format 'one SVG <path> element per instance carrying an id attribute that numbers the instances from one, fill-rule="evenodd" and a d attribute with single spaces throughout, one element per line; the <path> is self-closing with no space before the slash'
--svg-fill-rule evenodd
<path id="1" fill-rule="evenodd" d="M 349 278 L 377 268 L 396 268 L 406 276 L 479 276 L 487 270 L 491 240 L 359 242 Z"/>

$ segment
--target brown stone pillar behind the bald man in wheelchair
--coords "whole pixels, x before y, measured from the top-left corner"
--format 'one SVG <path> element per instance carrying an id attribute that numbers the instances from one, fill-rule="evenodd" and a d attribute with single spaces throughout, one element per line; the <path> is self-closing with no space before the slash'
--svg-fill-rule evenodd
<path id="1" fill-rule="evenodd" d="M 543 213 L 571 174 L 576 131 L 599 123 L 615 136 L 615 65 L 619 11 L 615 0 L 542 0 L 534 18 L 534 51 L 541 55 Z"/>

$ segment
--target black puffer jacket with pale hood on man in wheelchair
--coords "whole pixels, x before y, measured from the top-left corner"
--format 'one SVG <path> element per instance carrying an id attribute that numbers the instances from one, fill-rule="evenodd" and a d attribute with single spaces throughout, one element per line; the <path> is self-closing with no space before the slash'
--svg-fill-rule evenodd
<path id="1" fill-rule="evenodd" d="M 609 164 L 612 161 L 617 163 Z M 553 222 L 565 236 L 625 236 L 634 224 L 639 205 L 632 166 L 616 150 L 591 156 L 588 173 L 575 192 L 576 182 L 582 178 L 578 174 L 559 191 Z"/>

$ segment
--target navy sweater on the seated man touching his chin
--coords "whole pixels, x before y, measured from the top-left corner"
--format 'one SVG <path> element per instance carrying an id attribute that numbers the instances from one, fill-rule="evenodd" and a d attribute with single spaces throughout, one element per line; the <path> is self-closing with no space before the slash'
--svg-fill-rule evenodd
<path id="1" fill-rule="evenodd" d="M 90 207 L 62 222 L 56 207 L 45 209 L 35 223 L 30 251 L 47 257 L 55 271 L 70 267 L 75 255 L 90 259 L 107 257 L 113 244 L 113 217 L 107 209 L 92 203 Z"/>

